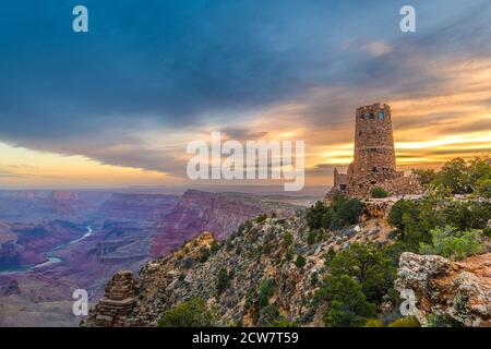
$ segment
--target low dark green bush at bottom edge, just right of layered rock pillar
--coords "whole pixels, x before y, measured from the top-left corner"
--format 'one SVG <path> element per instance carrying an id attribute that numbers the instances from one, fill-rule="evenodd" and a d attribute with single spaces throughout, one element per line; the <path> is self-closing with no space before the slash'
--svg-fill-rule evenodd
<path id="1" fill-rule="evenodd" d="M 202 299 L 195 298 L 166 311 L 158 321 L 159 327 L 213 327 L 216 315 Z"/>

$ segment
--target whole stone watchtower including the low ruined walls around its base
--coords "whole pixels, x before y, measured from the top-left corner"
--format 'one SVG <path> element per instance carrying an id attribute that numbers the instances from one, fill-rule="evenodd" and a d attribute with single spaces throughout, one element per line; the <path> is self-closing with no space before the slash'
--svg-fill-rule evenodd
<path id="1" fill-rule="evenodd" d="M 326 194 L 369 197 L 373 188 L 383 188 L 391 195 L 420 194 L 419 182 L 396 169 L 392 115 L 388 105 L 374 104 L 357 109 L 354 161 L 348 173 L 334 169 L 334 186 Z"/>

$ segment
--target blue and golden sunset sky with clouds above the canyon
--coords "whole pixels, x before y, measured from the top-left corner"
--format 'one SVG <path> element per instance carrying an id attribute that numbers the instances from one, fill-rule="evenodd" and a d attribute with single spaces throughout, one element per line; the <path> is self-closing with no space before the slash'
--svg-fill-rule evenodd
<path id="1" fill-rule="evenodd" d="M 489 0 L 4 1 L 0 188 L 187 185 L 185 147 L 213 131 L 303 140 L 307 184 L 328 185 L 375 101 L 399 169 L 484 155 L 490 37 Z"/>

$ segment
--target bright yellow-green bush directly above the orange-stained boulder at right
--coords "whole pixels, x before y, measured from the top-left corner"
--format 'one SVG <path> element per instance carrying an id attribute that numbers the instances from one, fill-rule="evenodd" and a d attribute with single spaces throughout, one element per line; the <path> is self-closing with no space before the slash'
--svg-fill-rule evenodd
<path id="1" fill-rule="evenodd" d="M 463 260 L 482 250 L 481 236 L 476 230 L 457 231 L 446 226 L 430 231 L 432 245 L 422 243 L 420 253 L 438 254 L 451 260 Z"/>

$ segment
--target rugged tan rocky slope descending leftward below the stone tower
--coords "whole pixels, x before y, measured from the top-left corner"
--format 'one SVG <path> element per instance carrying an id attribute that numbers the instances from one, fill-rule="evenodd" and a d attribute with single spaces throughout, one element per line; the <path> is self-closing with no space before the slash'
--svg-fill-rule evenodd
<path id="1" fill-rule="evenodd" d="M 166 310 L 182 301 L 201 298 L 217 312 L 224 326 L 256 325 L 261 321 L 261 310 L 254 292 L 270 281 L 275 287 L 268 301 L 286 318 L 302 326 L 321 326 L 325 309 L 313 306 L 308 300 L 318 289 L 312 278 L 322 274 L 327 252 L 346 249 L 355 242 L 371 241 L 383 245 L 387 242 L 388 230 L 373 221 L 363 222 L 333 231 L 325 240 L 309 244 L 304 219 L 291 217 L 249 221 L 224 242 L 209 232 L 203 232 L 173 253 L 142 267 L 136 303 L 129 311 L 133 316 L 124 315 L 125 320 L 119 324 L 156 326 Z M 291 239 L 288 243 L 285 242 L 289 240 L 287 236 Z M 296 265 L 297 255 L 306 258 L 304 266 Z M 218 294 L 217 279 L 223 269 L 230 280 Z M 103 310 L 97 305 L 85 325 L 104 325 L 95 321 Z"/>

